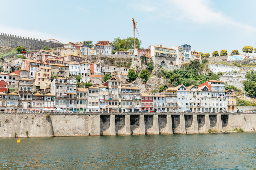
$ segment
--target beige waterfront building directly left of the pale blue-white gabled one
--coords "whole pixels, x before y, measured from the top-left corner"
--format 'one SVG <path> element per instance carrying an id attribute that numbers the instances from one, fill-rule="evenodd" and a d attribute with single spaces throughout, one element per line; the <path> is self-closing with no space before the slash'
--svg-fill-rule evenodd
<path id="1" fill-rule="evenodd" d="M 166 112 L 177 112 L 177 91 L 168 88 L 164 91 L 166 97 Z"/>

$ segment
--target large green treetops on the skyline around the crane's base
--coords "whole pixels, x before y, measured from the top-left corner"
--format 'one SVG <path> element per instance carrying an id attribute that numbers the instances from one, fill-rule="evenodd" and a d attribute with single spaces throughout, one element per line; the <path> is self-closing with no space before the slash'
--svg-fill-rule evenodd
<path id="1" fill-rule="evenodd" d="M 141 40 L 135 38 L 136 48 L 140 49 Z M 133 48 L 133 37 L 127 37 L 126 39 L 121 39 L 120 37 L 114 38 L 113 44 L 115 44 L 117 51 L 128 51 L 128 49 Z"/>

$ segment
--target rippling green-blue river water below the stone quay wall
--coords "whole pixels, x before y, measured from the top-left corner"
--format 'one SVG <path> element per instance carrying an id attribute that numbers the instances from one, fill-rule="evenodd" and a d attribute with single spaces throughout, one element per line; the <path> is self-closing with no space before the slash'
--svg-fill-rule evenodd
<path id="1" fill-rule="evenodd" d="M 0 169 L 256 169 L 256 133 L 0 139 Z"/>

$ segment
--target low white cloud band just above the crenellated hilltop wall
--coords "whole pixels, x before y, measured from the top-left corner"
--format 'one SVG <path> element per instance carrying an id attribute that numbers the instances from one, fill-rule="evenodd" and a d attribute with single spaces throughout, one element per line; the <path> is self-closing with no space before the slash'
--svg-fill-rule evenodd
<path id="1" fill-rule="evenodd" d="M 30 31 L 30 30 L 24 30 L 24 29 L 19 29 L 19 28 L 11 28 L 11 27 L 3 26 L 3 25 L 0 25 L 0 30 L 1 30 L 1 33 L 3 33 L 3 34 L 10 34 L 10 35 L 20 36 L 20 37 L 24 37 L 24 38 L 29 37 L 29 38 L 35 38 L 35 39 L 41 39 L 41 40 L 55 39 L 62 43 L 68 42 L 68 40 L 65 40 L 61 37 L 56 37 L 56 35 L 51 35 L 51 34 L 38 32 L 38 31 Z"/>

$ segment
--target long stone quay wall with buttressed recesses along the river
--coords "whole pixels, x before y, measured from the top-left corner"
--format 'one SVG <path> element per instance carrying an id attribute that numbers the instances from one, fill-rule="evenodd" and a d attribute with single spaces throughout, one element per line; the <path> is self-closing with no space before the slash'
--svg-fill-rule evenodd
<path id="1" fill-rule="evenodd" d="M 256 113 L 1 113 L 0 138 L 255 131 Z M 28 132 L 27 132 L 28 131 Z M 26 134 L 27 132 L 27 134 Z"/>

